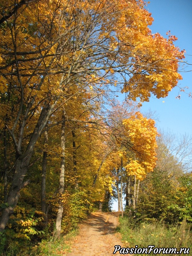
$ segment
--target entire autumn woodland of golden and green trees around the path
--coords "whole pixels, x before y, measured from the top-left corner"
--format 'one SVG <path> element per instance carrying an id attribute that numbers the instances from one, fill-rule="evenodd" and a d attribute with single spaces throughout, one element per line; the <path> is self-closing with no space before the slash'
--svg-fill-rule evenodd
<path id="1" fill-rule="evenodd" d="M 137 102 L 182 79 L 184 51 L 152 21 L 142 0 L 1 1 L 0 253 L 113 198 L 123 216 L 123 195 L 128 215 L 192 221 L 191 138 L 158 133 Z"/>

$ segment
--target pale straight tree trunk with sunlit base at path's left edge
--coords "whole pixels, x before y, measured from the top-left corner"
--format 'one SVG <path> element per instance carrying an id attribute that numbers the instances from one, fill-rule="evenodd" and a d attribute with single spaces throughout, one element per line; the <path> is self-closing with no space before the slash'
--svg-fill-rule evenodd
<path id="1" fill-rule="evenodd" d="M 64 179 L 65 179 L 65 114 L 62 115 L 61 124 L 61 163 L 60 163 L 60 179 L 59 179 L 59 208 L 56 218 L 56 230 L 54 236 L 59 237 L 61 232 L 61 221 L 63 213 L 62 195 L 64 192 Z"/>

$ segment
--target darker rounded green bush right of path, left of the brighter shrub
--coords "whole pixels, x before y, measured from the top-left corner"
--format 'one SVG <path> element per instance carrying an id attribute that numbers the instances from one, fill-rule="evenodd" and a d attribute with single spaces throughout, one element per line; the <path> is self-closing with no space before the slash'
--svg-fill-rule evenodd
<path id="1" fill-rule="evenodd" d="M 169 178 L 157 168 L 148 174 L 146 180 L 141 184 L 137 216 L 145 220 L 164 220 L 165 222 L 175 222 L 178 214 L 171 211 L 169 205 L 175 202 L 175 186 Z"/>

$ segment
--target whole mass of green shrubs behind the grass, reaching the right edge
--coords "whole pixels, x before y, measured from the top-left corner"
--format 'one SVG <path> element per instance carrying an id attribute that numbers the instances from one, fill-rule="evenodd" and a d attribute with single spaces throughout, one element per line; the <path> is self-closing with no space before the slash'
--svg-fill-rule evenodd
<path id="1" fill-rule="evenodd" d="M 191 175 L 186 174 L 170 180 L 166 172 L 158 168 L 148 174 L 141 184 L 136 215 L 138 218 L 155 222 L 181 223 L 186 219 L 191 222 Z"/>

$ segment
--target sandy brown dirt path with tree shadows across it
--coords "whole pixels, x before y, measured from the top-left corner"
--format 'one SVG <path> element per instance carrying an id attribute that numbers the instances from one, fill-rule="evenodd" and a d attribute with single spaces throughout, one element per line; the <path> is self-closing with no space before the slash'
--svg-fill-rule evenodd
<path id="1" fill-rule="evenodd" d="M 114 245 L 121 245 L 120 237 L 115 234 L 118 225 L 118 213 L 94 212 L 80 225 L 79 235 L 72 244 L 67 256 L 111 256 Z M 116 252 L 115 255 L 119 254 Z"/>

